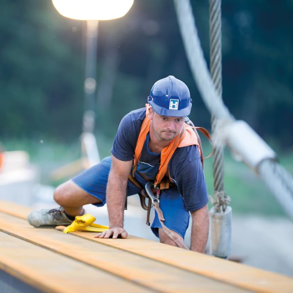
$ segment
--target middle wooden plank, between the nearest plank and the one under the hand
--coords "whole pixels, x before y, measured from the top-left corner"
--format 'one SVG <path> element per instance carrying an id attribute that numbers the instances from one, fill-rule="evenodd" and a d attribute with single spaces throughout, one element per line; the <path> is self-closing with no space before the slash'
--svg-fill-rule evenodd
<path id="1" fill-rule="evenodd" d="M 25 220 L 3 213 L 0 213 L 0 230 L 156 291 L 247 292 L 193 272 L 55 229 L 36 229 Z"/>

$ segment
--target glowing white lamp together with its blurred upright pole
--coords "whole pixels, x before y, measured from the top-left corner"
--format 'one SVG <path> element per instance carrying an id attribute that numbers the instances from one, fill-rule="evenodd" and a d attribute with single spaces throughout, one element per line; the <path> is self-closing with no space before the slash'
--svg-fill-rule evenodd
<path id="1" fill-rule="evenodd" d="M 95 127 L 96 52 L 98 25 L 102 20 L 121 18 L 129 11 L 134 0 L 52 0 L 57 11 L 64 17 L 86 21 L 86 54 L 84 77 L 84 116 L 82 155 L 89 167 L 100 162 Z"/>

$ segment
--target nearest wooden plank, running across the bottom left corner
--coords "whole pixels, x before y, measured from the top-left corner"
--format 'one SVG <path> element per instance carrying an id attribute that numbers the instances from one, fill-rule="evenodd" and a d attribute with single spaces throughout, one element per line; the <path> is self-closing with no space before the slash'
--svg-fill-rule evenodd
<path id="1" fill-rule="evenodd" d="M 0 269 L 42 292 L 150 292 L 58 253 L 0 232 Z"/>

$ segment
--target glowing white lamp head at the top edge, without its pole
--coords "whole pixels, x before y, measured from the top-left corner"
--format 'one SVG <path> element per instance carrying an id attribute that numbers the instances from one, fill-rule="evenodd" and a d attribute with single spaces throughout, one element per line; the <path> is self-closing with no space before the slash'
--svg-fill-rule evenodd
<path id="1" fill-rule="evenodd" d="M 52 0 L 57 11 L 74 20 L 106 21 L 126 15 L 134 0 Z"/>

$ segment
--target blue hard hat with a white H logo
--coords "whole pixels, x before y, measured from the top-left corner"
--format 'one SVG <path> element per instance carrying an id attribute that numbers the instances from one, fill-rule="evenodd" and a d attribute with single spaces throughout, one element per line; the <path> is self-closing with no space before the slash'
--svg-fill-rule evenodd
<path id="1" fill-rule="evenodd" d="M 159 115 L 172 117 L 188 116 L 192 105 L 187 85 L 172 75 L 153 85 L 147 102 Z"/>

